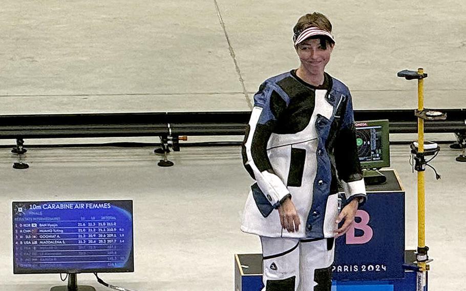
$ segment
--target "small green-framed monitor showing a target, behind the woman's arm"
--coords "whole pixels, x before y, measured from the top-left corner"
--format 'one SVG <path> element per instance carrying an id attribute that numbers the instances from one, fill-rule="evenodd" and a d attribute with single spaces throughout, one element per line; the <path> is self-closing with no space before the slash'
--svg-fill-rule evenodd
<path id="1" fill-rule="evenodd" d="M 388 120 L 356 121 L 356 144 L 363 169 L 390 167 Z"/>

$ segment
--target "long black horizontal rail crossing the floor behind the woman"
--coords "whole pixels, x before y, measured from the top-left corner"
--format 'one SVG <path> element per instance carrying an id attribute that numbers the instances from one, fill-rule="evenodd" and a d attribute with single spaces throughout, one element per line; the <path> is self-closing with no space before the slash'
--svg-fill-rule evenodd
<path id="1" fill-rule="evenodd" d="M 427 133 L 466 131 L 466 109 L 441 110 L 426 121 Z M 100 113 L 0 115 L 0 139 L 244 135 L 250 112 Z M 355 110 L 356 120 L 388 119 L 390 133 L 416 133 L 414 109 Z"/>

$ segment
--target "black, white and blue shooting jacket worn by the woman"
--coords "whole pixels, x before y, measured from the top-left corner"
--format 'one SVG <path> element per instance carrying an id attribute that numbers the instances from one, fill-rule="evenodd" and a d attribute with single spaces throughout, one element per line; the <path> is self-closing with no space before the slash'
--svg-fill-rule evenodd
<path id="1" fill-rule="evenodd" d="M 333 237 L 339 205 L 366 199 L 357 156 L 351 94 L 325 74 L 327 88 L 312 87 L 294 71 L 263 82 L 242 147 L 255 183 L 246 200 L 241 229 L 267 237 Z M 300 218 L 298 232 L 280 223 L 277 208 L 287 197 Z M 346 201 L 345 201 L 346 200 Z"/>

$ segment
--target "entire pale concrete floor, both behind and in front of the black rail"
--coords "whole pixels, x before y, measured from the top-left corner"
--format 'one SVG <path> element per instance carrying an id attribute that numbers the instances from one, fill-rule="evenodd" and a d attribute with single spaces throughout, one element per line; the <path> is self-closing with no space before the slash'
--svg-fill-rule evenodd
<path id="1" fill-rule="evenodd" d="M 2 11 L 0 114 L 249 110 L 265 78 L 298 66 L 291 29 L 309 11 L 333 23 L 328 72 L 350 87 L 356 109 L 415 108 L 416 83 L 396 73 L 418 67 L 429 74 L 426 107 L 464 108 L 460 1 L 18 0 Z M 416 175 L 407 147 L 391 150 L 407 192 L 406 245 L 414 248 Z M 426 175 L 431 290 L 463 289 L 466 168 L 457 155 L 443 147 L 434 162 L 442 179 Z M 183 148 L 170 169 L 156 166 L 151 148 L 32 149 L 26 171 L 13 170 L 14 159 L 0 151 L 7 220 L 13 200 L 134 199 L 136 271 L 102 275 L 110 283 L 231 290 L 233 254 L 260 251 L 258 239 L 239 230 L 250 183 L 239 148 Z M 13 275 L 9 227 L 0 238 L 0 290 L 59 284 L 57 275 Z M 78 280 L 105 289 L 90 274 Z"/>

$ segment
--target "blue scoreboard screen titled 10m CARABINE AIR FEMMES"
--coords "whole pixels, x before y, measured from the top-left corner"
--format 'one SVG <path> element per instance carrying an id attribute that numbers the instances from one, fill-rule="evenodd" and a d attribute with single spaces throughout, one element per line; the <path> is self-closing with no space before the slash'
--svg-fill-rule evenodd
<path id="1" fill-rule="evenodd" d="M 13 202 L 13 273 L 133 272 L 133 201 Z"/>

